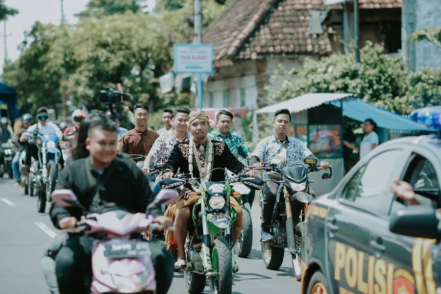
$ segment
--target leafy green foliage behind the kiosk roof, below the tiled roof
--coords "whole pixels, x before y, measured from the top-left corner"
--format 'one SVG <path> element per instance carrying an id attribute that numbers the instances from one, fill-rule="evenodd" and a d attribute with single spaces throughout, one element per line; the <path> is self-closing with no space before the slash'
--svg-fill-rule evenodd
<path id="1" fill-rule="evenodd" d="M 440 103 L 441 70 L 411 73 L 401 58 L 383 52 L 381 45 L 368 43 L 360 50 L 360 69 L 354 54 L 340 53 L 319 60 L 308 58 L 300 70 L 281 69 L 281 73 L 274 76 L 279 82 L 267 89 L 268 103 L 314 92 L 353 93 L 375 106 L 400 114 L 408 114 L 420 105 Z"/>

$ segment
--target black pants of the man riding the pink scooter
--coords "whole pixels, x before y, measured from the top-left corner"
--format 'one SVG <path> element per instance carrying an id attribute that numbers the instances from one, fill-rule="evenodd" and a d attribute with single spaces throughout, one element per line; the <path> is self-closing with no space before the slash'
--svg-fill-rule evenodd
<path id="1" fill-rule="evenodd" d="M 84 281 L 92 277 L 92 243 L 95 239 L 84 235 L 71 235 L 55 258 L 55 271 L 60 294 L 86 294 Z M 156 273 L 156 293 L 166 294 L 172 284 L 174 259 L 167 249 L 150 242 L 151 259 Z"/>

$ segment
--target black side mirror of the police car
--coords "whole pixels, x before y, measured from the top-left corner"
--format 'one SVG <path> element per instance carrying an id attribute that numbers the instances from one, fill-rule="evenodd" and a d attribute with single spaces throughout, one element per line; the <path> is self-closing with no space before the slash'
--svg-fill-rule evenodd
<path id="1" fill-rule="evenodd" d="M 434 208 L 414 205 L 396 211 L 392 215 L 389 229 L 404 236 L 438 239 L 441 237 L 439 223 Z"/>

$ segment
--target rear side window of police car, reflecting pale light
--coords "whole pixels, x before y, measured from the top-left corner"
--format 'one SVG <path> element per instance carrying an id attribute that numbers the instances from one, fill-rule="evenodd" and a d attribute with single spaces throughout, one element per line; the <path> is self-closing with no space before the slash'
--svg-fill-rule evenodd
<path id="1" fill-rule="evenodd" d="M 343 190 L 341 199 L 372 213 L 378 213 L 384 192 L 391 184 L 390 175 L 402 155 L 402 150 L 382 152 L 354 174 Z"/>

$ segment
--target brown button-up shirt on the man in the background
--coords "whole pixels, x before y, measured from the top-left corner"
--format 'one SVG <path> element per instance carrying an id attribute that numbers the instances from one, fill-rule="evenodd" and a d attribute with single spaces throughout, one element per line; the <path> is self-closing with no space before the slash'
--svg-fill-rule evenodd
<path id="1" fill-rule="evenodd" d="M 149 129 L 144 132 L 138 130 L 137 127 L 125 132 L 119 141 L 121 151 L 127 154 L 147 155 L 155 140 L 159 137 L 158 133 Z M 138 162 L 142 159 L 135 159 Z"/>

